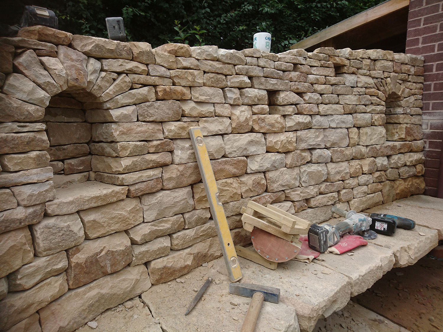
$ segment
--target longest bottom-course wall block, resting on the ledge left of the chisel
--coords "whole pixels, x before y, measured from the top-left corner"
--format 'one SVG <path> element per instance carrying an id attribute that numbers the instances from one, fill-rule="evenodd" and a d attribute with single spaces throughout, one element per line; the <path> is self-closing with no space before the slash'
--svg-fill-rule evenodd
<path id="1" fill-rule="evenodd" d="M 151 282 L 145 266 L 125 267 L 84 287 L 69 290 L 57 301 L 40 309 L 42 330 L 73 331 L 106 309 L 138 296 L 149 287 Z"/>

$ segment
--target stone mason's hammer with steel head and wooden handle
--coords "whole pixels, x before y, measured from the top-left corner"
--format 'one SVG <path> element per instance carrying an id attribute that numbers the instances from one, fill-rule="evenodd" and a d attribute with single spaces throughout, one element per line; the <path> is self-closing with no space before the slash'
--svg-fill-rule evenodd
<path id="1" fill-rule="evenodd" d="M 256 284 L 229 284 L 229 293 L 252 297 L 248 313 L 241 327 L 240 332 L 253 332 L 260 313 L 263 301 L 278 303 L 280 289 L 275 287 L 261 286 Z"/>

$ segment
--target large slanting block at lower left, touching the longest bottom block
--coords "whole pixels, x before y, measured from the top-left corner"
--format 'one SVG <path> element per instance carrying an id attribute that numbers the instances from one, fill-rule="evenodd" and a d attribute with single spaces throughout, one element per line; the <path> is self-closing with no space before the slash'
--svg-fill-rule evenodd
<path id="1" fill-rule="evenodd" d="M 29 290 L 9 293 L 0 307 L 0 314 L 4 318 L 0 328 L 5 330 L 12 327 L 66 293 L 67 290 L 66 274 L 61 273 L 40 282 Z"/>

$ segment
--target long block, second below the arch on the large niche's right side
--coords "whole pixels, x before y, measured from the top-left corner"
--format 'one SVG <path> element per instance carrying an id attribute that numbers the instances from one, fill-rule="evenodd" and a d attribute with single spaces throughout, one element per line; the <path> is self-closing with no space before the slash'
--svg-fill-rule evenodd
<path id="1" fill-rule="evenodd" d="M 163 139 L 163 130 L 162 125 L 155 122 L 93 124 L 92 139 L 104 142 Z"/>

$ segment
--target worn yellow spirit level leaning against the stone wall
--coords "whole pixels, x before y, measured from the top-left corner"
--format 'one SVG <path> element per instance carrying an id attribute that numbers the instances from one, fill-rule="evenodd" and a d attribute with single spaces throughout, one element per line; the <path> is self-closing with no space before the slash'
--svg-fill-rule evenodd
<path id="1" fill-rule="evenodd" d="M 192 146 L 194 147 L 195 156 L 197 157 L 198 168 L 202 175 L 203 185 L 205 186 L 206 196 L 208 197 L 212 218 L 214 219 L 215 228 L 217 229 L 218 240 L 220 241 L 229 278 L 231 282 L 236 282 L 242 277 L 240 264 L 231 233 L 229 232 L 225 210 L 223 209 L 223 205 L 218 201 L 217 183 L 215 182 L 214 172 L 200 127 L 190 127 L 189 135 Z"/>

